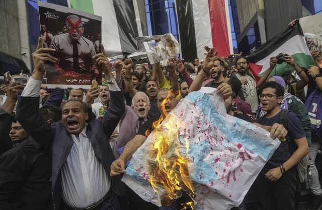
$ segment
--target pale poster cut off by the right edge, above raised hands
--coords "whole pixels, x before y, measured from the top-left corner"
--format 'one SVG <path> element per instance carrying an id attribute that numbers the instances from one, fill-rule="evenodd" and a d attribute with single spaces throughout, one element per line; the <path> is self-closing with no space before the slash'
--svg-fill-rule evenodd
<path id="1" fill-rule="evenodd" d="M 322 49 L 322 14 L 300 18 L 306 45 L 310 51 Z"/>

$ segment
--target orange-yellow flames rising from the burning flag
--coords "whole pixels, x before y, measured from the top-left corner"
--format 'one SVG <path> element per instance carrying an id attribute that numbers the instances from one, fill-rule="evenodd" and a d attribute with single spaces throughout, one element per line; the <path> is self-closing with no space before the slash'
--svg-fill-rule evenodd
<path id="1" fill-rule="evenodd" d="M 182 192 L 185 191 L 191 197 L 194 197 L 194 187 L 189 178 L 188 158 L 181 154 L 188 155 L 189 143 L 186 141 L 186 151 L 183 151 L 178 146 L 183 145 L 178 137 L 178 130 L 185 128 L 185 124 L 176 116 L 172 115 L 162 127 L 158 127 L 164 120 L 164 116 L 168 113 L 165 109 L 165 103 L 172 96 L 169 90 L 168 96 L 161 104 L 163 115 L 153 122 L 153 129 L 155 133 L 153 148 L 150 152 L 150 183 L 153 190 L 158 193 L 161 204 L 170 205 L 173 199 L 179 198 Z M 165 132 L 164 130 L 167 130 Z M 150 131 L 146 131 L 145 134 Z M 191 209 L 193 209 L 193 201 L 187 202 Z M 186 207 L 184 208 L 186 209 Z"/>

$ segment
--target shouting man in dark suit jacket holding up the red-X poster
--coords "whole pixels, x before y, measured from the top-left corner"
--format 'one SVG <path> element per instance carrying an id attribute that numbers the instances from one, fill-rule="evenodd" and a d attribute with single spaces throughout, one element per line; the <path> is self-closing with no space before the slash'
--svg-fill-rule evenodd
<path id="1" fill-rule="evenodd" d="M 110 84 L 111 103 L 104 120 L 94 119 L 91 109 L 88 110 L 82 101 L 69 100 L 62 107 L 62 123 L 50 126 L 39 115 L 38 92 L 44 63 L 56 63 L 57 59 L 49 54 L 55 50 L 41 48 L 41 42 L 39 38 L 37 51 L 33 53 L 33 75 L 21 96 L 18 95 L 17 119 L 37 143 L 52 148 L 54 209 L 119 209 L 116 194 L 122 195 L 124 186 L 120 176 L 109 176 L 115 158 L 108 137 L 122 117 L 125 104 L 108 59 L 104 54 L 93 57 L 97 65 L 103 66 Z M 114 63 L 114 67 L 118 65 L 122 65 L 120 61 Z"/>

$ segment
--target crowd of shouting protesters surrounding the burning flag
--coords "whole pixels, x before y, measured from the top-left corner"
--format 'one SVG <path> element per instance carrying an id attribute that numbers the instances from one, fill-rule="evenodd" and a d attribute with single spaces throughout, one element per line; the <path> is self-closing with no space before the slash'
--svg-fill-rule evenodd
<path id="1" fill-rule="evenodd" d="M 295 165 L 305 158 L 312 179 L 307 209 L 320 209 L 322 189 L 314 162 L 322 139 L 311 133 L 303 101 L 315 88 L 322 90 L 321 52 L 312 52 L 316 65 L 309 69 L 299 68 L 286 55 L 284 62 L 293 72 L 269 77 L 278 65 L 271 57 L 269 70 L 257 83 L 241 53 L 219 58 L 205 47 L 202 62 L 174 57 L 151 70 L 143 65 L 134 69 L 131 59 L 119 59 L 112 72 L 102 52 L 93 57 L 102 66 L 102 85 L 64 90 L 42 84 L 44 63 L 57 62 L 51 55 L 55 50 L 42 46 L 39 38 L 35 69 L 26 85 L 1 86 L 7 95 L 0 108 L 1 209 L 187 209 L 184 203 L 191 198 L 186 193 L 157 207 L 121 178 L 127 161 L 154 129 L 153 122 L 165 119 L 203 86 L 217 89 L 228 115 L 264 128 L 273 139 L 288 135 L 295 145 L 290 152 L 289 143 L 281 140 L 258 175 L 254 187 L 262 209 L 295 208 Z M 282 110 L 290 111 L 287 128 L 279 122 Z"/>

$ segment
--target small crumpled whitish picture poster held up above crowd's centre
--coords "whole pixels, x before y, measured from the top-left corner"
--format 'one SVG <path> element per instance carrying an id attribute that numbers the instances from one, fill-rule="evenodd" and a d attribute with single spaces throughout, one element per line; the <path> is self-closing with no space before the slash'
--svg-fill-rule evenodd
<path id="1" fill-rule="evenodd" d="M 150 64 L 173 58 L 180 52 L 179 42 L 172 34 L 164 34 L 143 42 Z"/>

